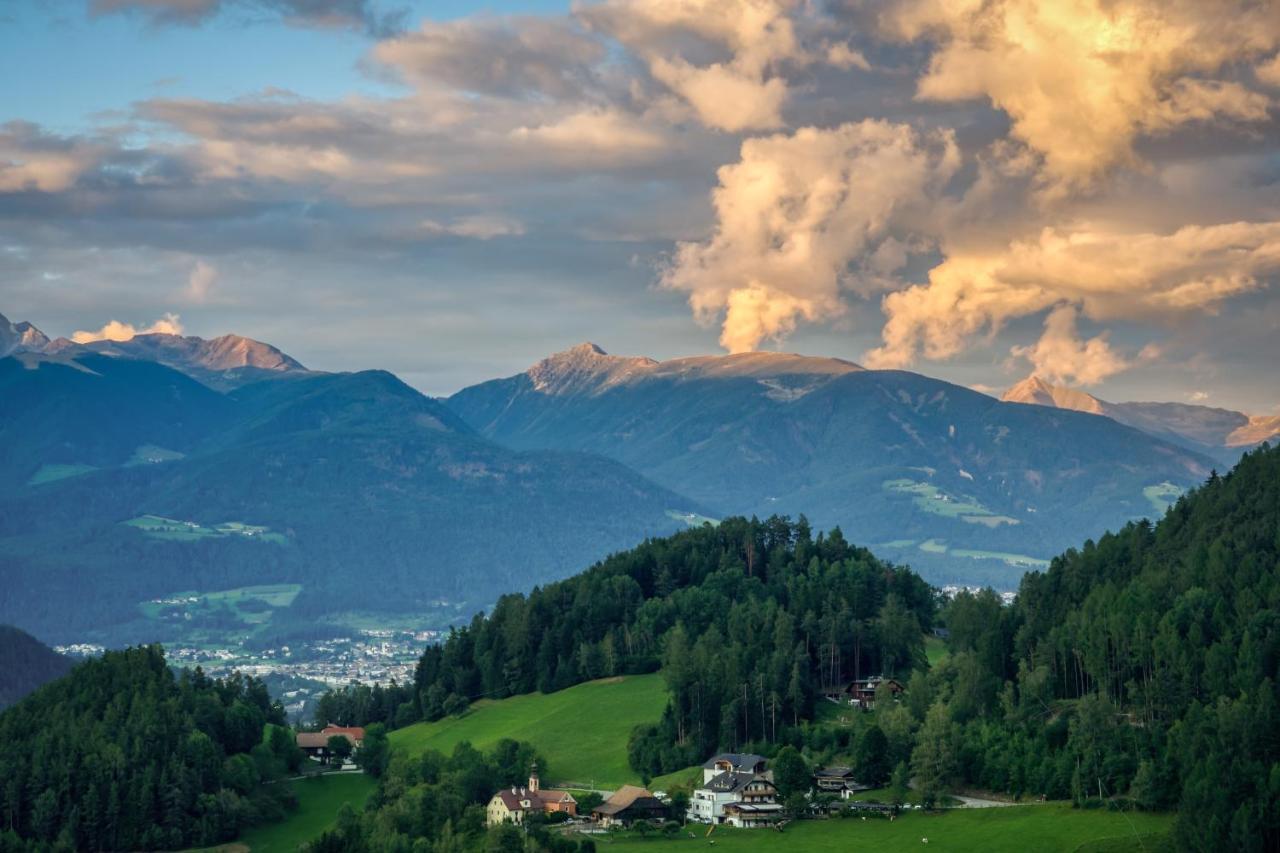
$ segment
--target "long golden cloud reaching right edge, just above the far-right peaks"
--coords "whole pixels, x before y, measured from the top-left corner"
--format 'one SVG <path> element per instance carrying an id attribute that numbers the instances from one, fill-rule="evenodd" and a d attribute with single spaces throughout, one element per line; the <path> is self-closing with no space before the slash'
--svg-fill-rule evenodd
<path id="1" fill-rule="evenodd" d="M 1062 302 L 1094 319 L 1158 321 L 1215 311 L 1280 272 L 1280 222 L 1185 225 L 1172 233 L 1046 228 L 1002 251 L 955 251 L 928 284 L 890 293 L 870 366 L 948 359 L 982 332 Z"/>

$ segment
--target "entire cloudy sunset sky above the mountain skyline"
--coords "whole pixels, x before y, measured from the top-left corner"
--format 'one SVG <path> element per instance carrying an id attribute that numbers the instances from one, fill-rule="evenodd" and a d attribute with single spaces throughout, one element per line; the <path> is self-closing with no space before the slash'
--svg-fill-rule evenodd
<path id="1" fill-rule="evenodd" d="M 14 0 L 0 313 L 1280 412 L 1280 0 Z"/>

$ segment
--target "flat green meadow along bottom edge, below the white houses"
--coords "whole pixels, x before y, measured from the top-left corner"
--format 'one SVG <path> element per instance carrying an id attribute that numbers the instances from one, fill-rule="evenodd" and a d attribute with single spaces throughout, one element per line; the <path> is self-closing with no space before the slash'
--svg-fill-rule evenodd
<path id="1" fill-rule="evenodd" d="M 964 808 L 941 815 L 910 812 L 895 821 L 844 818 L 800 821 L 783 833 L 717 827 L 710 839 L 717 850 L 768 850 L 769 853 L 846 853 L 872 849 L 974 850 L 982 853 L 1074 853 L 1076 850 L 1166 849 L 1172 817 L 1167 815 L 1079 811 L 1064 804 Z M 705 849 L 705 827 L 667 840 L 620 838 L 599 841 L 600 850 Z M 928 844 L 923 843 L 928 839 Z"/>

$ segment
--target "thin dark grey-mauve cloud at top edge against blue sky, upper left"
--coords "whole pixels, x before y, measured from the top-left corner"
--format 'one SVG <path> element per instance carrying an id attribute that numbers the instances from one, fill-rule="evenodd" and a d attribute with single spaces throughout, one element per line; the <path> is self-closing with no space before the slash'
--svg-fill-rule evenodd
<path id="1" fill-rule="evenodd" d="M 154 26 L 196 26 L 221 13 L 278 15 L 300 27 L 364 29 L 384 37 L 403 27 L 406 12 L 379 14 L 371 0 L 90 0 L 95 15 L 131 13 Z"/>

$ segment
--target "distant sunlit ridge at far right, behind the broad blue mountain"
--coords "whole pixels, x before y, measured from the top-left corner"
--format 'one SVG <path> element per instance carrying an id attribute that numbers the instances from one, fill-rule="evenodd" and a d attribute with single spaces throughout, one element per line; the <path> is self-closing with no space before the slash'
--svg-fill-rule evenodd
<path id="1" fill-rule="evenodd" d="M 1244 450 L 1280 435 L 1280 415 L 1251 416 L 1229 409 L 1176 402 L 1114 403 L 1084 391 L 1050 384 L 1039 377 L 1023 379 L 1001 400 L 1103 415 L 1230 464 Z"/>

